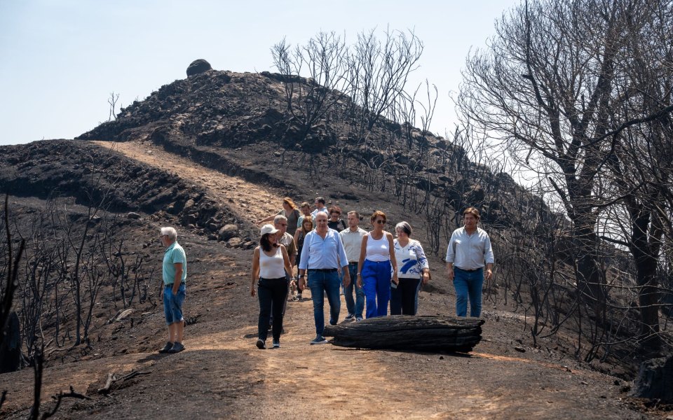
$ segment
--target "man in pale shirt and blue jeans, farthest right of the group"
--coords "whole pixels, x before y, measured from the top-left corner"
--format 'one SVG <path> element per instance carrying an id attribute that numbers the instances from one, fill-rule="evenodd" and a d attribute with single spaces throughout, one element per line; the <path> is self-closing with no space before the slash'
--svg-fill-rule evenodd
<path id="1" fill-rule="evenodd" d="M 493 276 L 495 260 L 491 239 L 487 232 L 477 228 L 479 217 L 479 210 L 474 207 L 465 209 L 463 228 L 454 230 L 447 248 L 447 274 L 456 288 L 457 316 L 467 316 L 468 299 L 470 316 L 479 317 L 482 314 L 484 277 L 490 280 Z"/>

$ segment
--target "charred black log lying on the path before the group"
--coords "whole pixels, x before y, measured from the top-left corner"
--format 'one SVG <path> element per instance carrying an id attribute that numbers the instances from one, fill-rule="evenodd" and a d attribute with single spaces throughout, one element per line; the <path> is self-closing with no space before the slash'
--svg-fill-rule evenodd
<path id="1" fill-rule="evenodd" d="M 394 315 L 327 325 L 332 344 L 362 349 L 472 351 L 482 339 L 481 318 Z"/>

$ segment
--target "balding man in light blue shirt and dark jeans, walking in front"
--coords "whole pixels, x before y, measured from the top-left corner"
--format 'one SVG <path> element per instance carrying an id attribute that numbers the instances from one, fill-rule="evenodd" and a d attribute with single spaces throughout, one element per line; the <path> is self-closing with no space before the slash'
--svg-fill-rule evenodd
<path id="1" fill-rule="evenodd" d="M 306 286 L 306 272 L 308 284 L 311 287 L 313 299 L 313 321 L 315 321 L 315 339 L 311 344 L 325 344 L 322 337 L 325 330 L 325 293 L 329 302 L 329 325 L 337 325 L 339 321 L 339 273 L 338 268 L 348 266 L 348 258 L 341 244 L 339 233 L 327 227 L 327 214 L 320 211 L 315 216 L 315 229 L 308 232 L 304 239 L 304 248 L 301 248 L 299 260 L 299 290 Z M 344 286 L 351 283 L 351 274 L 344 269 Z"/>

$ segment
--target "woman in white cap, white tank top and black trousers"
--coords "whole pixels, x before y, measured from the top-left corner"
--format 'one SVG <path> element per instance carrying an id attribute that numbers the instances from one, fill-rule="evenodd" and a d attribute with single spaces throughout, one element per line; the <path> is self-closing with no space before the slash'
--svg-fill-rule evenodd
<path id="1" fill-rule="evenodd" d="M 290 257 L 287 256 L 285 246 L 278 244 L 280 230 L 273 225 L 261 227 L 259 246 L 254 248 L 252 254 L 252 283 L 250 283 L 250 295 L 254 297 L 254 282 L 257 281 L 257 295 L 259 296 L 259 322 L 257 324 L 257 348 L 266 349 L 266 335 L 268 323 L 271 318 L 273 307 L 273 347 L 280 347 L 280 332 L 283 331 L 283 307 L 287 300 L 287 277 L 292 282 L 297 281 L 292 276 Z"/>

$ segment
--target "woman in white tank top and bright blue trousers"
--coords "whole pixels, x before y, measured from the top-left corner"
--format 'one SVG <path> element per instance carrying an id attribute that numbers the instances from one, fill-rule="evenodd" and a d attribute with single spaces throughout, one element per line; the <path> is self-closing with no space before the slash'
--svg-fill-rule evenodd
<path id="1" fill-rule="evenodd" d="M 390 300 L 390 281 L 397 285 L 397 263 L 393 235 L 383 230 L 386 214 L 374 211 L 372 232 L 362 237 L 360 261 L 358 262 L 358 286 L 365 290 L 367 318 L 386 316 Z"/>

